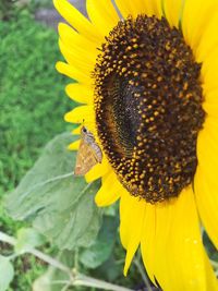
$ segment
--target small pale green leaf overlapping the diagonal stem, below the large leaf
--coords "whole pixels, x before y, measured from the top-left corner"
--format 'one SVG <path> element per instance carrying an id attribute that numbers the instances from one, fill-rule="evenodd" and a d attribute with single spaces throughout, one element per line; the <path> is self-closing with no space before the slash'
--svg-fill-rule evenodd
<path id="1" fill-rule="evenodd" d="M 22 228 L 17 231 L 17 240 L 14 246 L 16 254 L 28 252 L 46 242 L 45 237 L 33 228 Z"/>

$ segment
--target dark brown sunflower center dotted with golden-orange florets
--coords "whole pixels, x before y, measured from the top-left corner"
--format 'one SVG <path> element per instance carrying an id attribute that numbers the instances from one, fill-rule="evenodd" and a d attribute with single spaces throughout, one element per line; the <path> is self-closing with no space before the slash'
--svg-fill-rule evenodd
<path id="1" fill-rule="evenodd" d="M 196 170 L 205 112 L 196 63 L 166 19 L 120 21 L 94 71 L 98 135 L 120 182 L 156 203 L 178 196 Z"/>

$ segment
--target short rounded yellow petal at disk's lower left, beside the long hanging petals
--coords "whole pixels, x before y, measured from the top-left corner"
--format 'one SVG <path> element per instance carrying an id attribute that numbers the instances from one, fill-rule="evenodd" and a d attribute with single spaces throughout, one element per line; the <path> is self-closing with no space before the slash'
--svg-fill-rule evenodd
<path id="1" fill-rule="evenodd" d="M 120 198 L 121 185 L 113 171 L 102 177 L 102 185 L 95 196 L 98 207 L 105 207 L 113 204 Z"/>

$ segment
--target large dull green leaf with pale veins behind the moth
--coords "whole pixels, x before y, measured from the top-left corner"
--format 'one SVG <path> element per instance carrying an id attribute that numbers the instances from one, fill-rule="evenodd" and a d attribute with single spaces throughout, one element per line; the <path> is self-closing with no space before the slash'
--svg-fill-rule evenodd
<path id="1" fill-rule="evenodd" d="M 53 138 L 5 199 L 13 219 L 32 221 L 61 250 L 89 246 L 101 225 L 94 203 L 99 182 L 87 184 L 73 175 L 76 153 L 66 149 L 71 142 L 69 133 Z"/>

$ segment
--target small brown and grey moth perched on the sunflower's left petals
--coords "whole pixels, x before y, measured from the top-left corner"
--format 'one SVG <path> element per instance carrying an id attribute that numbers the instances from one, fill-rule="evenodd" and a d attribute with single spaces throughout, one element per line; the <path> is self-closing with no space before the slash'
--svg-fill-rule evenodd
<path id="1" fill-rule="evenodd" d="M 75 175 L 86 174 L 96 163 L 101 163 L 102 151 L 87 128 L 81 129 L 81 144 L 75 163 Z"/>

